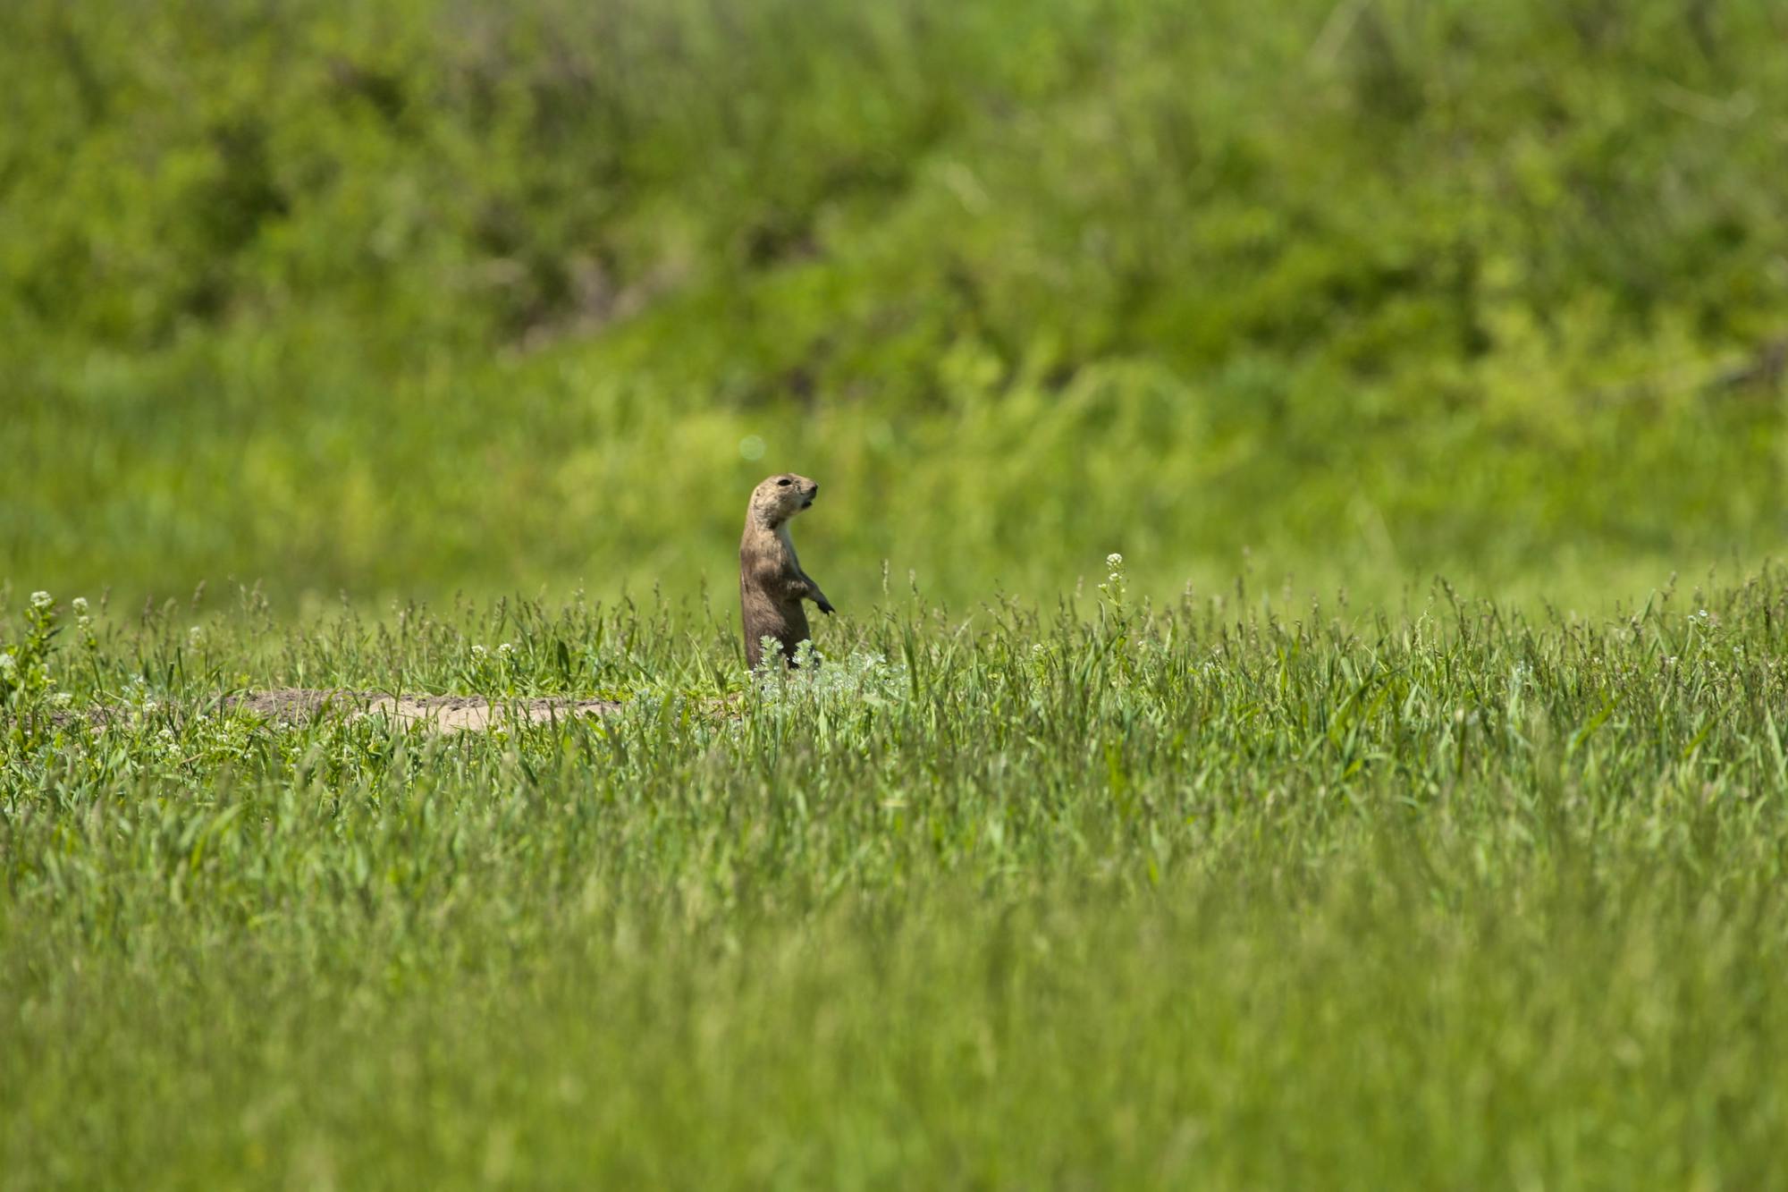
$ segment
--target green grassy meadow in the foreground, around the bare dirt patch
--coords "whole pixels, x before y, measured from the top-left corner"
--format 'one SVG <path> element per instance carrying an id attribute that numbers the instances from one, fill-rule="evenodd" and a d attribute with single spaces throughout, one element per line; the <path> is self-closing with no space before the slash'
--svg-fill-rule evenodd
<path id="1" fill-rule="evenodd" d="M 746 687 L 699 609 L 18 603 L 11 1188 L 1788 1179 L 1783 573 L 896 594 Z M 279 682 L 631 702 L 200 714 Z"/>

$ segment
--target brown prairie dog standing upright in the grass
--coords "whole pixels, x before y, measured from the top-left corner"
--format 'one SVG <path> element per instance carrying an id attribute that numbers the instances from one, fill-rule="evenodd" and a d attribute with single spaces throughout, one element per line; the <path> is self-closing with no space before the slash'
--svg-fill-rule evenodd
<path id="1" fill-rule="evenodd" d="M 763 657 L 765 637 L 781 643 L 783 659 L 794 666 L 794 648 L 808 639 L 803 600 L 812 600 L 821 612 L 831 612 L 831 601 L 819 591 L 819 583 L 801 571 L 789 539 L 789 523 L 814 503 L 817 492 L 817 483 L 794 473 L 771 476 L 751 490 L 746 537 L 738 541 L 738 607 L 751 669 Z"/>

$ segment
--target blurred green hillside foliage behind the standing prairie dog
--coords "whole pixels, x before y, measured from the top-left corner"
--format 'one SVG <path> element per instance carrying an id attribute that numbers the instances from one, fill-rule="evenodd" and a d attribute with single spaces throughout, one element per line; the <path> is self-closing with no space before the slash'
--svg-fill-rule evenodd
<path id="1" fill-rule="evenodd" d="M 840 609 L 1784 526 L 1774 0 L 0 5 L 0 578 Z M 755 440 L 762 440 L 762 458 Z"/>

